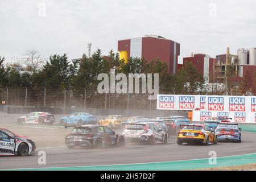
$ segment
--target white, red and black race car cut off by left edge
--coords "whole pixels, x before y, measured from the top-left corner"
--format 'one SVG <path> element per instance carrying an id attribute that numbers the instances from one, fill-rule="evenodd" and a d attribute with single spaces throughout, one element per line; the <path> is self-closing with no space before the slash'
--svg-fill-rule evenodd
<path id="1" fill-rule="evenodd" d="M 16 137 L 13 133 L 6 133 L 0 129 L 0 156 L 26 156 L 32 152 L 32 144 L 24 138 Z"/>

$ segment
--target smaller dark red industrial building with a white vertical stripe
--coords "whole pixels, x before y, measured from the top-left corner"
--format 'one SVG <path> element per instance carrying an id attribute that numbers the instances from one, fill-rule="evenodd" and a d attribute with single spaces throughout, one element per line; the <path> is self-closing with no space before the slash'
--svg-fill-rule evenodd
<path id="1" fill-rule="evenodd" d="M 192 53 L 190 57 L 183 58 L 183 64 L 187 61 L 195 65 L 197 71 L 201 73 L 206 82 L 210 81 L 210 77 L 212 77 L 214 71 L 214 64 L 216 64 L 217 61 L 215 58 L 203 53 L 197 53 L 195 55 Z M 183 65 L 179 65 L 179 69 L 182 69 L 182 67 Z"/>

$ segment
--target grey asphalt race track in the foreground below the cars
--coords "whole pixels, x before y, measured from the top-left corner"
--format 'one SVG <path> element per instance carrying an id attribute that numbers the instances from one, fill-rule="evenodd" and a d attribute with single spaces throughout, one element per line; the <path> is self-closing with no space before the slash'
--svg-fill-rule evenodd
<path id="1" fill-rule="evenodd" d="M 254 153 L 256 150 L 256 134 L 242 132 L 242 143 L 219 142 L 217 145 L 178 146 L 175 137 L 167 144 L 156 143 L 129 144 L 121 148 L 75 148 L 46 147 L 38 148 L 46 151 L 46 165 L 39 165 L 39 156 L 26 157 L 6 156 L 0 158 L 0 169 L 14 168 L 45 168 L 45 167 L 76 167 L 100 166 L 112 164 L 132 164 L 148 162 L 167 162 L 175 160 L 209 158 L 209 151 L 216 151 L 217 157 Z"/>

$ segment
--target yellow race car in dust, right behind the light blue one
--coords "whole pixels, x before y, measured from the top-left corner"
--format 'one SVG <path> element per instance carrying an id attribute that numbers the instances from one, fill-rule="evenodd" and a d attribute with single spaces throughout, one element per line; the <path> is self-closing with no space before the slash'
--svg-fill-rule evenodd
<path id="1" fill-rule="evenodd" d="M 108 126 L 112 129 L 113 127 L 121 127 L 122 122 L 125 122 L 125 117 L 122 115 L 108 115 L 108 117 L 101 119 L 99 123 L 101 126 Z"/>

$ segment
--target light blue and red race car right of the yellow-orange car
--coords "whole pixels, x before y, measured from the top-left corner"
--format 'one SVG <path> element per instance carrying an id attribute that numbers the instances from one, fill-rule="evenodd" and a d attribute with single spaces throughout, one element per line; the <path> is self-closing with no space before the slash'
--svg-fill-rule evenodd
<path id="1" fill-rule="evenodd" d="M 214 133 L 217 135 L 219 141 L 233 140 L 237 142 L 242 142 L 241 130 L 241 128 L 238 128 L 237 123 L 220 122 L 214 130 Z"/>

